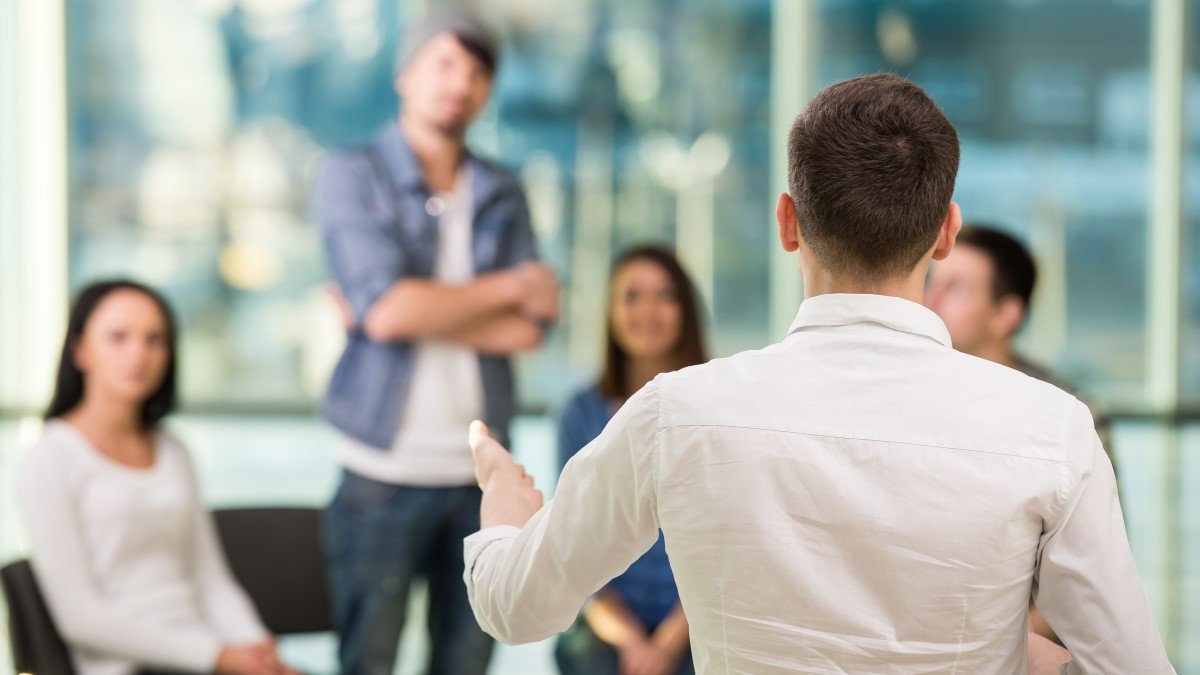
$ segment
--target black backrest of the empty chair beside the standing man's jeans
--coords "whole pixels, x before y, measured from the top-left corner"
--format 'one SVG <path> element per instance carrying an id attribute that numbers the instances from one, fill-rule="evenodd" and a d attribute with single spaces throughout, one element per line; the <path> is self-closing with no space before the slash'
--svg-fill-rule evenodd
<path id="1" fill-rule="evenodd" d="M 214 512 L 234 577 L 276 635 L 332 631 L 332 608 L 316 508 Z"/>

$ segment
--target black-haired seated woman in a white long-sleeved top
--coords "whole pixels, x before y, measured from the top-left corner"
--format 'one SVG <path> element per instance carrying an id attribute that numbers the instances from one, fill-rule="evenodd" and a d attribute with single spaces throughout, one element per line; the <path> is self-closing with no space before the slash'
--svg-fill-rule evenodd
<path id="1" fill-rule="evenodd" d="M 18 491 L 34 571 L 79 675 L 293 673 L 230 575 L 175 405 L 175 325 L 130 281 L 84 289 Z"/>

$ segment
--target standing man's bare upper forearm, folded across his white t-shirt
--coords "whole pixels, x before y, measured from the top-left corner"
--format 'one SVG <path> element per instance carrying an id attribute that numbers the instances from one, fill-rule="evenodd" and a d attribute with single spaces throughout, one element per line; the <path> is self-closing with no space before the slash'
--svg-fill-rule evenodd
<path id="1" fill-rule="evenodd" d="M 505 273 L 486 274 L 462 285 L 402 279 L 371 305 L 362 330 L 377 342 L 446 335 L 511 309 L 520 300 L 520 283 Z"/>

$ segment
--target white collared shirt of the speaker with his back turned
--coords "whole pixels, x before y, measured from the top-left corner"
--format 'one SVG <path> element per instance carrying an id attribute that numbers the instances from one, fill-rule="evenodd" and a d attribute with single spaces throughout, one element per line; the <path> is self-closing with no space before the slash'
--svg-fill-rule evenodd
<path id="1" fill-rule="evenodd" d="M 547 638 L 658 536 L 698 673 L 1174 673 L 1087 408 L 925 307 L 805 300 L 786 340 L 658 377 L 523 527 L 466 542 L 480 626 Z"/>

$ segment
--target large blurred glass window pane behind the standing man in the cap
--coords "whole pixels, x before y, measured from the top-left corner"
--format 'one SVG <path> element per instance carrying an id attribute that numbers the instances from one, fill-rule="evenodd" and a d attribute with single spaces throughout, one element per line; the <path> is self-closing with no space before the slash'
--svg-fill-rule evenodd
<path id="1" fill-rule="evenodd" d="M 341 345 L 306 214 L 311 168 L 394 119 L 404 4 L 68 7 L 72 288 L 115 274 L 163 288 L 191 404 L 311 405 Z M 721 327 L 716 353 L 766 341 L 769 11 L 486 13 L 508 49 L 472 142 L 521 173 L 566 283 L 563 327 L 522 364 L 527 407 L 592 376 L 610 259 L 635 241 L 679 245 Z"/>

